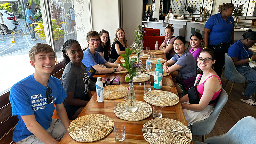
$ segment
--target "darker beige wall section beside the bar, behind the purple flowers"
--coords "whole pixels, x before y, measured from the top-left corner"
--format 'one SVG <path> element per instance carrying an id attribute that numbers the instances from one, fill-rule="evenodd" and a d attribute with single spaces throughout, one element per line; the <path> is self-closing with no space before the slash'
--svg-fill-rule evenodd
<path id="1" fill-rule="evenodd" d="M 138 25 L 142 25 L 143 0 L 123 0 L 123 29 L 127 39 L 128 47 L 132 44 L 134 31 Z"/>

